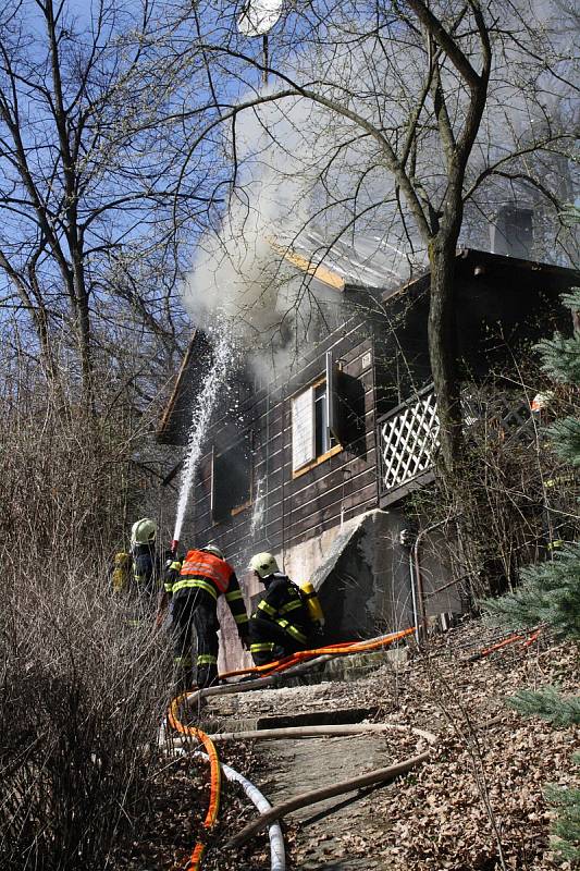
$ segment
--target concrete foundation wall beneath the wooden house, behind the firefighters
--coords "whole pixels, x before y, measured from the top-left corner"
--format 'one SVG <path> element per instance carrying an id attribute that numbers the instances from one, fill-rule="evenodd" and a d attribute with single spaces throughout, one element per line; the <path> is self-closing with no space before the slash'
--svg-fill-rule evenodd
<path id="1" fill-rule="evenodd" d="M 403 512 L 375 508 L 286 550 L 284 559 L 281 553 L 275 554 L 281 568 L 295 582 L 313 584 L 324 611 L 325 641 L 372 638 L 415 625 L 415 565 L 411 566 L 411 550 L 399 538 L 402 530 L 408 528 Z M 427 536 L 419 552 L 428 616 L 464 610 L 454 586 L 432 594 L 453 580 L 441 535 L 434 531 Z M 252 598 L 263 587 L 247 574 L 240 573 L 240 580 L 249 610 Z M 220 671 L 251 665 L 224 602 L 220 602 Z"/>

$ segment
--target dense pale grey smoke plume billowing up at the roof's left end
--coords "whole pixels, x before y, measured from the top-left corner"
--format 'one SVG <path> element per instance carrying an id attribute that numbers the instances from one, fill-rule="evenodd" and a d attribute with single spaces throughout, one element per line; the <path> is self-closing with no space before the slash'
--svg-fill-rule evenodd
<path id="1" fill-rule="evenodd" d="M 201 240 L 185 284 L 184 303 L 194 322 L 208 327 L 219 312 L 245 346 L 276 347 L 279 364 L 285 356 L 285 326 L 307 317 L 311 294 L 323 297 L 284 257 L 299 244 L 313 210 L 314 140 L 305 133 L 313 123 L 305 100 L 240 113 L 230 208 L 219 231 Z"/>

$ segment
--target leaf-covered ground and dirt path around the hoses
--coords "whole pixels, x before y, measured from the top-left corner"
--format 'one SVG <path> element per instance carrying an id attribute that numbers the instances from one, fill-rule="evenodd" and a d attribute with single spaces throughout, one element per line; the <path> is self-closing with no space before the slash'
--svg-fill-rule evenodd
<path id="1" fill-rule="evenodd" d="M 208 704 L 205 716 L 224 724 L 350 708 L 369 712 L 375 722 L 418 726 L 437 735 L 430 760 L 395 784 L 288 815 L 284 821 L 288 871 L 570 868 L 551 849 L 553 811 L 543 787 L 573 782 L 570 758 L 580 746 L 578 733 L 525 720 L 506 707 L 505 699 L 518 688 L 547 684 L 578 691 L 578 650 L 543 635 L 529 647 L 519 643 L 471 661 L 493 640 L 490 629 L 471 623 L 433 639 L 425 652 L 411 650 L 407 663 L 385 664 L 363 679 L 264 689 Z M 254 746 L 236 741 L 221 745 L 220 755 L 275 805 L 383 768 L 418 749 L 423 747 L 418 748 L 415 736 L 388 733 Z M 157 824 L 139 838 L 140 860 L 125 854 L 128 871 L 177 871 L 185 866 L 205 812 L 207 771 L 198 762 L 182 760 L 165 777 L 165 787 L 168 807 L 161 814 L 156 811 Z M 239 790 L 229 787 L 203 868 L 268 869 L 263 833 L 235 856 L 223 849 L 226 839 L 255 817 Z M 146 854 L 144 843 L 150 845 Z"/>

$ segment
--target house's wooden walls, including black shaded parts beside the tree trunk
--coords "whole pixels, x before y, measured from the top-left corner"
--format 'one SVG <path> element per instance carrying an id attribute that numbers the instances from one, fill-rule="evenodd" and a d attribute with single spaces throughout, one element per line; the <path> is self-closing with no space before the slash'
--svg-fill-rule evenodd
<path id="1" fill-rule="evenodd" d="M 570 270 L 527 266 L 477 252 L 459 256 L 457 342 L 470 377 L 485 377 L 492 363 L 499 366 L 511 359 L 518 343 L 535 341 L 552 326 L 563 323 L 558 293 L 572 283 L 572 275 Z M 338 525 L 341 519 L 379 506 L 377 417 L 432 380 L 428 307 L 429 277 L 424 275 L 385 294 L 382 312 L 377 305 L 377 317 L 359 315 L 335 329 L 286 383 L 246 397 L 235 419 L 222 416 L 213 421 L 208 452 L 212 443 L 223 450 L 236 432 L 251 431 L 254 502 L 226 522 L 212 523 L 208 453 L 194 496 L 196 543 L 213 540 L 242 566 L 250 551 L 284 551 Z M 506 336 L 505 344 L 495 341 L 499 332 Z M 289 397 L 324 376 L 324 355 L 330 349 L 334 359 L 343 361 L 345 373 L 361 385 L 365 431 L 358 441 L 293 479 Z M 363 368 L 367 354 L 371 363 Z M 263 513 L 257 518 L 260 490 Z M 403 495 L 397 492 L 396 499 Z M 383 500 L 382 505 L 386 504 Z"/>

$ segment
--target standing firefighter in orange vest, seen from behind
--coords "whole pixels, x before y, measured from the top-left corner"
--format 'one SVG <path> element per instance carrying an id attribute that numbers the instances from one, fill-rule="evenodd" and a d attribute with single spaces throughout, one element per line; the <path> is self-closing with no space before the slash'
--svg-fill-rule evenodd
<path id="1" fill-rule="evenodd" d="M 242 590 L 232 566 L 221 550 L 207 544 L 187 552 L 185 560 L 170 562 L 164 575 L 164 593 L 160 601 L 158 624 L 163 610 L 172 601 L 174 663 L 182 683 L 192 672 L 192 628 L 197 635 L 197 685 L 209 687 L 218 677 L 218 599 L 225 596 L 237 626 L 239 639 L 247 647 L 248 615 Z"/>

